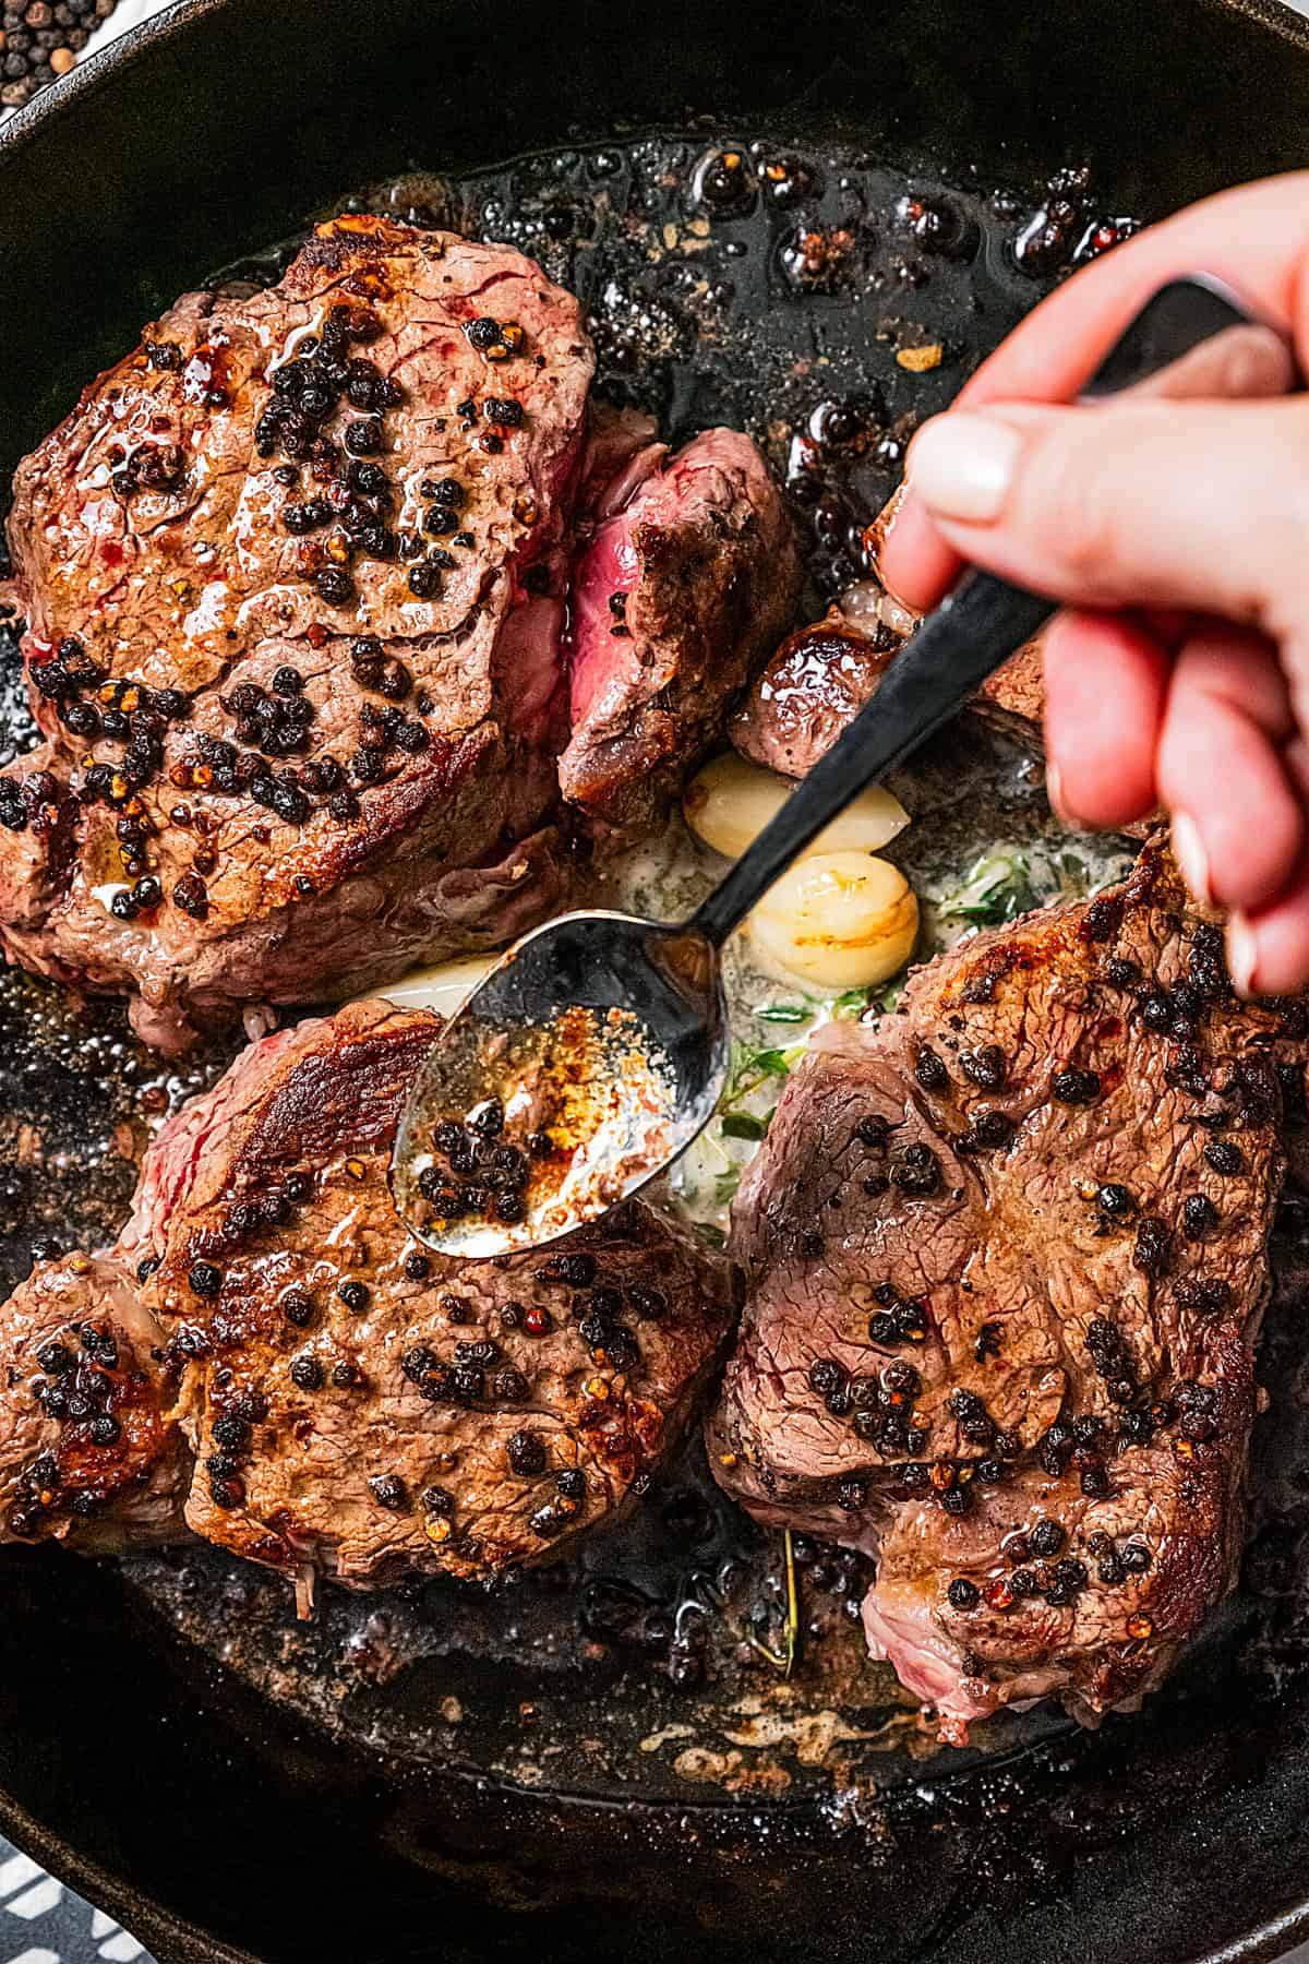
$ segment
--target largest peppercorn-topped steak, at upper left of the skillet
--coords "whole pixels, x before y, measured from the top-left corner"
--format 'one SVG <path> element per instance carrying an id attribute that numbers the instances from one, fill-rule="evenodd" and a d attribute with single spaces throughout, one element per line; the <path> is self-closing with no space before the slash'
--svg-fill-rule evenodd
<path id="1" fill-rule="evenodd" d="M 559 898 L 591 369 L 530 259 L 347 216 L 86 389 L 8 520 L 45 731 L 0 778 L 14 960 L 177 1047 Z"/>

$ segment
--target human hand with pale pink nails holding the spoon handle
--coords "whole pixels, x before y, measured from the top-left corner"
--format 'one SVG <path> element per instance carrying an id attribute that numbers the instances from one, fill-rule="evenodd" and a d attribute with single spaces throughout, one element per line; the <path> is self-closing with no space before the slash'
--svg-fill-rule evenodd
<path id="1" fill-rule="evenodd" d="M 1066 603 L 1052 803 L 1105 827 L 1164 805 L 1187 884 L 1229 909 L 1232 982 L 1282 994 L 1309 982 L 1309 397 L 1283 395 L 1264 336 L 1185 397 L 1070 403 L 1150 293 L 1195 271 L 1309 375 L 1309 173 L 1191 206 L 1060 287 L 922 426 L 881 573 L 915 607 L 962 560 Z"/>

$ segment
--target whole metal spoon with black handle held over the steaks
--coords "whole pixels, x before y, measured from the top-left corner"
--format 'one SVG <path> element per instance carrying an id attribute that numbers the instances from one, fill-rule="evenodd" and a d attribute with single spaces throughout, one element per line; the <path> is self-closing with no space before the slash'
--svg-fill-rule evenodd
<path id="1" fill-rule="evenodd" d="M 1083 399 L 1142 385 L 1158 393 L 1174 363 L 1178 393 L 1219 393 L 1195 369 L 1205 359 L 1195 350 L 1215 336 L 1225 336 L 1225 359 L 1262 361 L 1264 373 L 1280 361 L 1289 387 L 1280 336 L 1197 277 L 1146 302 Z M 1052 613 L 1036 593 L 968 575 L 689 921 L 569 913 L 514 943 L 410 1090 L 391 1190 L 414 1233 L 465 1259 L 540 1247 L 685 1151 L 728 1076 L 718 960 L 728 935 L 850 799 L 903 764 Z"/>

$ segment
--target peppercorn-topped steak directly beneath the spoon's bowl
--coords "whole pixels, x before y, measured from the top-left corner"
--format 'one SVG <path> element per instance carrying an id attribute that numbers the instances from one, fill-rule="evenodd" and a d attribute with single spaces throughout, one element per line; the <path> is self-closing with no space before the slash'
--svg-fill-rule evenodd
<path id="1" fill-rule="evenodd" d="M 493 1577 L 644 1485 L 732 1271 L 644 1202 L 550 1255 L 420 1249 L 387 1167 L 438 1029 L 365 1002 L 251 1045 L 151 1145 L 118 1245 L 37 1265 L 0 1318 L 0 1534 L 184 1526 L 304 1601 L 316 1569 Z"/>

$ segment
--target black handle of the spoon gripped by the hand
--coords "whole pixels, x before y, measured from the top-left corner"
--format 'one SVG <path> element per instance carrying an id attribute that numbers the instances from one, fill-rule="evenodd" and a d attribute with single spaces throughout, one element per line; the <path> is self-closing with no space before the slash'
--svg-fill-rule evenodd
<path id="1" fill-rule="evenodd" d="M 1250 322 L 1252 316 L 1219 281 L 1205 275 L 1170 281 L 1146 300 L 1115 342 L 1083 389 L 1083 399 L 1119 395 L 1160 375 L 1225 328 Z M 968 573 L 922 623 L 903 654 L 897 654 L 873 699 L 814 764 L 687 927 L 722 947 L 822 827 L 865 784 L 903 764 L 932 731 L 956 715 L 973 689 L 1030 640 L 1054 611 L 1054 601 L 1007 579 Z"/>

